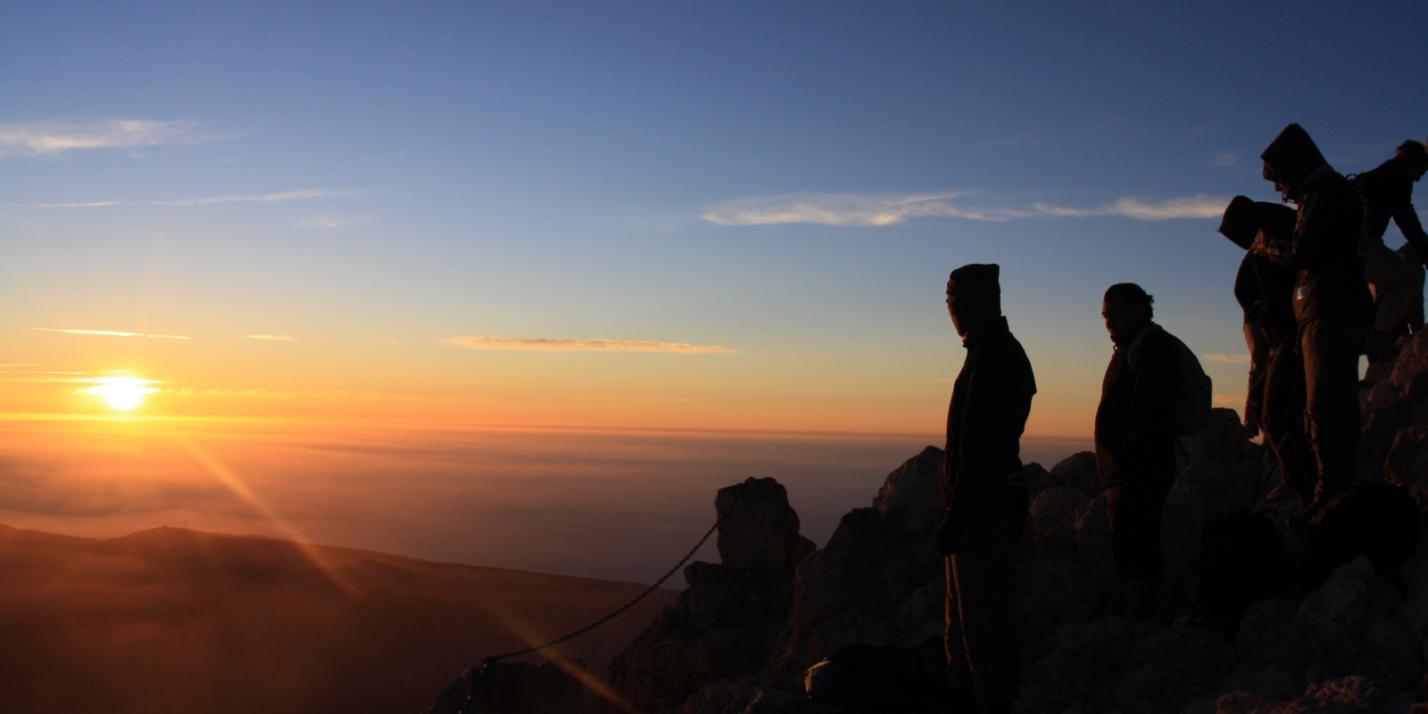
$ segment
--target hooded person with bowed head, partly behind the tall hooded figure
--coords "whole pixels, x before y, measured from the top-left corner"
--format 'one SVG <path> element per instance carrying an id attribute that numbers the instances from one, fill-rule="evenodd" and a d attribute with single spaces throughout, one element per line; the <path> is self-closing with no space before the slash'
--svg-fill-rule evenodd
<path id="1" fill-rule="evenodd" d="M 1235 298 L 1245 314 L 1250 391 L 1245 426 L 1264 431 L 1264 444 L 1279 464 L 1284 488 L 1304 504 L 1314 500 L 1314 453 L 1304 433 L 1304 360 L 1294 317 L 1294 267 L 1282 251 L 1294 236 L 1294 210 L 1235 196 L 1220 233 L 1245 248 L 1235 277 Z"/>

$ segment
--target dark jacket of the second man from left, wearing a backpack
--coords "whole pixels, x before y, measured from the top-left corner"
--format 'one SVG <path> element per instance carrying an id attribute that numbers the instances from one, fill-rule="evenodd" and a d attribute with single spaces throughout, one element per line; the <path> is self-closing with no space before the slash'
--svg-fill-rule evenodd
<path id="1" fill-rule="evenodd" d="M 1131 368 L 1131 344 L 1144 333 Z M 1095 410 L 1095 464 L 1101 484 L 1170 483 L 1175 477 L 1175 398 L 1180 347 L 1150 323 L 1111 353 Z"/>

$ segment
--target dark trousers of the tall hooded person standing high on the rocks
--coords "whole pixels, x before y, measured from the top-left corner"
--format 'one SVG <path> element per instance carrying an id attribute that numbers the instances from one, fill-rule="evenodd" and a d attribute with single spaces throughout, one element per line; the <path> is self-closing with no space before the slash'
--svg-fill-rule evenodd
<path id="1" fill-rule="evenodd" d="M 1314 320 L 1299 327 L 1304 416 L 1314 450 L 1314 501 L 1338 496 L 1354 476 L 1358 451 L 1358 347 L 1364 328 Z"/>

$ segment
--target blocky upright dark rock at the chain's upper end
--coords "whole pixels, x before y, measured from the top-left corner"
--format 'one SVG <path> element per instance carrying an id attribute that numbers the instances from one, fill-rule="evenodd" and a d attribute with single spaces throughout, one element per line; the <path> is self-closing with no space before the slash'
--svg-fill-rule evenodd
<path id="1" fill-rule="evenodd" d="M 798 534 L 798 514 L 788 506 L 788 491 L 773 478 L 748 478 L 720 488 L 720 563 L 735 570 L 793 573 L 814 544 Z"/>

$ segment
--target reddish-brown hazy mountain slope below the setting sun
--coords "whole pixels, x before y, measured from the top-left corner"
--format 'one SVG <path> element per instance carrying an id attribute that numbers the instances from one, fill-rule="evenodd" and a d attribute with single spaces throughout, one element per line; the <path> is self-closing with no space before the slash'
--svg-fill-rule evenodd
<path id="1" fill-rule="evenodd" d="M 0 526 L 0 711 L 420 711 L 644 585 L 156 528 Z M 603 671 L 673 591 L 573 641 Z"/>

